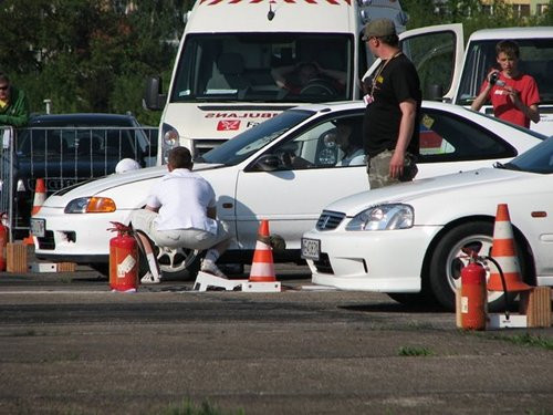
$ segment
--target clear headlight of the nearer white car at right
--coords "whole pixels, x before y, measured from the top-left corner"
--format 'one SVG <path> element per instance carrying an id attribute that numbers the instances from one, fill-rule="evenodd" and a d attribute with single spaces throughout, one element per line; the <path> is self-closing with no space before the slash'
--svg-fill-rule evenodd
<path id="1" fill-rule="evenodd" d="M 373 206 L 355 215 L 346 230 L 393 230 L 413 227 L 415 211 L 409 205 Z"/>

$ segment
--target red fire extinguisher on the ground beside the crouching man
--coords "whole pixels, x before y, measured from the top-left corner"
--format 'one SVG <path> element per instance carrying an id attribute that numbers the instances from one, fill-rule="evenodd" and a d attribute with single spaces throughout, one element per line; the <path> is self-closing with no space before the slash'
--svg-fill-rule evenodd
<path id="1" fill-rule="evenodd" d="M 132 229 L 112 222 L 117 236 L 109 240 L 109 287 L 114 291 L 134 292 L 138 288 L 138 246 Z"/>

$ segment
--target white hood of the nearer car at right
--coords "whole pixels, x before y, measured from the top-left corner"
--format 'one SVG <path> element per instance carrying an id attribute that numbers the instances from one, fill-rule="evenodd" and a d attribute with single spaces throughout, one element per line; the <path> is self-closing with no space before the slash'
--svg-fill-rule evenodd
<path id="1" fill-rule="evenodd" d="M 505 185 L 512 187 L 513 179 L 528 175 L 532 174 L 500 168 L 480 168 L 367 190 L 338 199 L 328 205 L 325 210 L 342 211 L 352 217 L 369 206 L 385 203 L 413 204 L 415 200 L 422 200 L 425 204 L 437 204 L 438 199 L 451 200 L 452 197 L 458 198 L 460 194 L 467 197 L 482 193 L 491 195 L 501 193 Z M 495 191 L 490 189 L 495 189 Z"/>

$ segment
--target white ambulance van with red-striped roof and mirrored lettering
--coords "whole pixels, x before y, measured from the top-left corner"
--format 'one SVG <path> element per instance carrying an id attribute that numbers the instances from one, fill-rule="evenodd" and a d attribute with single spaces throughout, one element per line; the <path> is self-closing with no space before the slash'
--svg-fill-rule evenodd
<path id="1" fill-rule="evenodd" d="M 374 61 L 363 27 L 383 17 L 405 30 L 397 0 L 198 0 L 186 18 L 168 95 L 156 77 L 146 89 L 146 107 L 164 108 L 158 163 L 175 145 L 199 156 L 302 103 L 361 98 L 359 80 Z M 304 62 L 316 62 L 321 76 L 296 91 L 276 85 L 271 71 Z"/>

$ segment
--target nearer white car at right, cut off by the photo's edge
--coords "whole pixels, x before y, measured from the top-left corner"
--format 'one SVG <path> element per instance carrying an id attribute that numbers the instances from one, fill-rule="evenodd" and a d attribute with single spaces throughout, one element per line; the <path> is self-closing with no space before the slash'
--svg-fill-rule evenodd
<path id="1" fill-rule="evenodd" d="M 523 279 L 553 286 L 553 137 L 495 168 L 374 189 L 326 206 L 302 240 L 312 281 L 387 292 L 400 302 L 437 300 L 453 310 L 468 262 L 461 248 L 490 255 L 499 204 L 509 208 Z M 489 294 L 491 309 L 503 304 L 502 293 Z"/>

